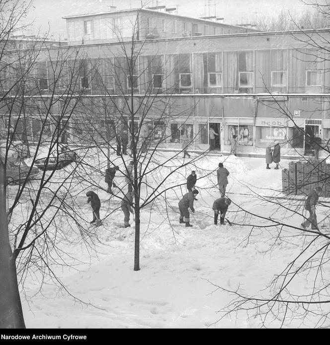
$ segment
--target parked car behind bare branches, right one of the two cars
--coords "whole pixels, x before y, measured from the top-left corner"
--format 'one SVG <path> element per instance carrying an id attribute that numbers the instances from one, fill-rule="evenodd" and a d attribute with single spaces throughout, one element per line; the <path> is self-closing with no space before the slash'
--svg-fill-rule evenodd
<path id="1" fill-rule="evenodd" d="M 59 170 L 76 160 L 77 153 L 72 151 L 68 145 L 59 143 L 58 146 L 54 146 L 48 162 L 44 157 L 37 159 L 34 164 L 41 170 Z"/>

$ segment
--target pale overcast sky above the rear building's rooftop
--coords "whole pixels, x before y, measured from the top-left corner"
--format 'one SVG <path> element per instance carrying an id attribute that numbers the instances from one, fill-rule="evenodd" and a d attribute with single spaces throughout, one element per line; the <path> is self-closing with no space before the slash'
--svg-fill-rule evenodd
<path id="1" fill-rule="evenodd" d="M 142 0 L 146 6 L 166 5 L 178 6 L 178 14 L 191 17 L 217 15 L 224 17 L 225 23 L 242 24 L 254 21 L 261 15 L 276 15 L 285 8 L 291 12 L 300 12 L 308 8 L 301 0 Z M 308 0 L 307 0 L 308 1 Z M 27 20 L 31 25 L 27 34 L 37 34 L 48 31 L 58 38 L 60 34 L 66 37 L 66 23 L 62 18 L 66 15 L 96 13 L 104 11 L 108 5 L 117 9 L 137 8 L 141 0 L 33 0 Z"/>

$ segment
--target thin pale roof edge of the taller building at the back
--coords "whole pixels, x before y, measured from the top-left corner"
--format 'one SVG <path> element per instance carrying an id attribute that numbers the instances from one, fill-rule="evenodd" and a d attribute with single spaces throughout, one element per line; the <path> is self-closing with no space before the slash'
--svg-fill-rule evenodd
<path id="1" fill-rule="evenodd" d="M 235 27 L 235 28 L 240 29 L 240 30 L 247 30 L 248 29 L 248 30 L 256 31 L 256 32 L 259 31 L 259 30 L 256 30 L 256 29 L 247 28 L 245 26 L 218 23 L 218 22 L 213 21 L 213 20 L 194 18 L 194 17 L 187 17 L 187 16 L 184 16 L 184 15 L 160 12 L 160 11 L 155 11 L 155 10 L 147 9 L 147 8 L 120 9 L 120 10 L 115 10 L 115 11 L 97 12 L 97 13 L 89 13 L 89 14 L 85 13 L 85 14 L 69 15 L 69 16 L 65 16 L 65 17 L 62 17 L 62 18 L 63 19 L 73 19 L 73 18 L 83 18 L 83 17 L 97 16 L 97 15 L 102 15 L 102 14 L 138 12 L 138 11 L 143 11 L 143 12 L 147 12 L 147 13 L 157 13 L 157 14 L 161 14 L 161 15 L 164 15 L 164 16 L 177 17 L 177 18 L 182 18 L 182 19 L 186 19 L 186 20 L 197 20 L 197 21 L 200 21 L 202 23 L 208 23 L 208 24 L 212 23 L 212 24 L 215 24 L 217 26 Z"/>

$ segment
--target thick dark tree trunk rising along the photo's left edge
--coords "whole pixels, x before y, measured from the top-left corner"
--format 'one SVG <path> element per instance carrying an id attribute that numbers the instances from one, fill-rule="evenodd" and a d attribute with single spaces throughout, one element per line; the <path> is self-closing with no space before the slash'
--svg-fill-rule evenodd
<path id="1" fill-rule="evenodd" d="M 8 237 L 4 164 L 0 160 L 0 328 L 25 328 L 15 261 Z"/>

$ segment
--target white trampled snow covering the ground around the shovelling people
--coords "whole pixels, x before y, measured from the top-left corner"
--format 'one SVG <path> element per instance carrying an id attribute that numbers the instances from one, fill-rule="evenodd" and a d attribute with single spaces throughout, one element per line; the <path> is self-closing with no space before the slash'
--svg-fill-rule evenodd
<path id="1" fill-rule="evenodd" d="M 158 160 L 165 161 L 170 152 L 158 153 Z M 113 159 L 116 159 L 114 156 Z M 127 162 L 129 161 L 129 158 Z M 213 225 L 213 201 L 220 197 L 215 186 L 218 163 L 230 171 L 227 193 L 232 199 L 226 217 L 233 226 Z M 115 164 L 119 164 L 119 160 Z M 289 160 L 282 160 L 280 166 L 288 167 Z M 96 164 L 96 163 L 95 163 Z M 100 171 L 104 171 L 104 160 Z M 103 165 L 102 165 L 103 164 Z M 167 164 L 164 173 L 171 171 L 177 163 Z M 274 164 L 273 164 L 274 166 Z M 69 169 L 67 167 L 66 169 Z M 204 157 L 196 164 L 181 168 L 173 173 L 165 187 L 174 183 L 185 183 L 191 170 L 197 177 L 210 173 L 197 181 L 200 194 L 195 202 L 195 214 L 191 217 L 192 228 L 178 223 L 178 196 L 186 193 L 185 186 L 166 193 L 172 208 L 165 211 L 160 200 L 152 207 L 146 207 L 141 214 L 140 271 L 133 271 L 134 228 L 122 228 L 123 215 L 118 202 L 105 190 L 97 187 L 102 208 L 101 217 L 112 211 L 96 228 L 97 253 L 88 252 L 84 246 L 63 245 L 63 253 L 80 260 L 75 269 L 58 271 L 57 274 L 68 291 L 52 283 L 46 283 L 41 293 L 35 294 L 39 282 L 25 281 L 25 295 L 22 294 L 23 311 L 28 328 L 238 328 L 259 327 L 260 319 L 247 318 L 246 313 L 220 320 L 218 311 L 231 301 L 233 296 L 217 290 L 217 286 L 235 290 L 238 286 L 244 292 L 256 295 L 264 289 L 274 274 L 278 274 L 292 260 L 301 248 L 301 238 L 282 241 L 270 252 L 273 244 L 272 229 L 255 229 L 248 238 L 252 226 L 243 224 L 267 223 L 251 213 L 282 220 L 299 226 L 302 218 L 290 211 L 278 211 L 274 203 L 262 201 L 261 196 L 272 196 L 291 209 L 301 205 L 299 197 L 292 200 L 281 194 L 281 170 L 265 169 L 264 158 L 240 158 L 235 156 Z M 58 171 L 56 174 L 64 174 Z M 54 175 L 56 176 L 60 175 Z M 153 175 L 157 185 L 161 176 Z M 96 182 L 103 188 L 104 177 L 99 174 Z M 151 180 L 151 178 L 150 178 Z M 148 180 L 148 184 L 153 184 Z M 118 176 L 119 187 L 125 178 Z M 82 209 L 85 226 L 88 226 L 91 211 L 84 195 L 85 186 L 77 186 L 77 203 Z M 115 189 L 115 192 L 118 189 Z M 143 189 L 142 195 L 147 193 Z M 116 208 L 118 208 L 116 210 Z M 321 210 L 321 207 L 319 208 Z M 206 220 L 210 226 L 200 229 L 197 222 Z M 133 221 L 131 220 L 133 226 Z M 62 224 L 65 227 L 65 224 Z M 275 227 L 274 227 L 275 229 Z M 292 235 L 295 229 L 283 228 Z M 91 256 L 90 256 L 91 254 Z M 297 289 L 304 291 L 308 283 L 295 282 Z M 70 295 L 71 294 L 71 295 Z M 74 299 L 74 296 L 76 299 Z M 26 298 L 26 299 L 25 299 Z M 82 302 L 80 302 L 81 300 Z M 279 327 L 281 320 L 268 327 Z M 284 322 L 284 327 L 298 327 L 299 322 Z M 304 325 L 313 327 L 313 320 Z"/>

